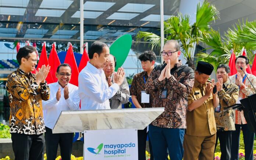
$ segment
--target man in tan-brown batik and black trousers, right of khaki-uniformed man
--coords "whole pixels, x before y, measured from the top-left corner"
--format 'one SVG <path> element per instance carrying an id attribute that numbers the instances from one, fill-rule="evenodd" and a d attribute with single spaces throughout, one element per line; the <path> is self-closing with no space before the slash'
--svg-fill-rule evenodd
<path id="1" fill-rule="evenodd" d="M 223 86 L 222 90 L 218 92 L 220 103 L 214 112 L 217 127 L 215 149 L 219 139 L 221 160 L 231 160 L 231 134 L 232 131 L 235 131 L 235 123 L 233 121 L 234 110 L 232 108 L 225 110 L 225 108 L 234 105 L 237 102 L 239 94 L 238 86 L 231 83 L 228 79 L 229 74 L 230 68 L 228 65 L 219 65 L 217 67 L 216 76 Z"/>

